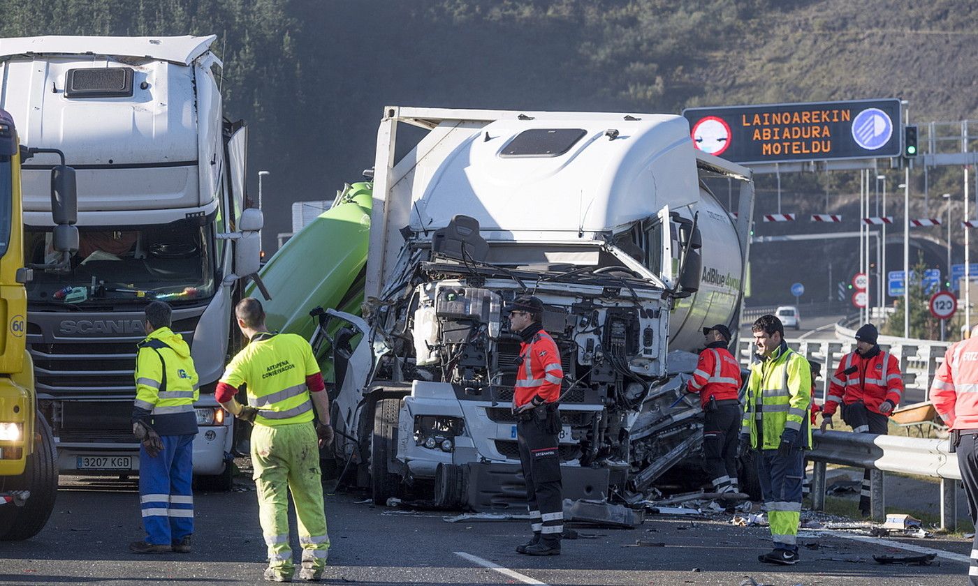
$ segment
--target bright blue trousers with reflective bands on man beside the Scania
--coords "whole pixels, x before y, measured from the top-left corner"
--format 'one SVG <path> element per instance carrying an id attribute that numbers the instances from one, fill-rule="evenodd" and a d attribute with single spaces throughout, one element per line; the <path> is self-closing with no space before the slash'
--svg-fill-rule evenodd
<path id="1" fill-rule="evenodd" d="M 139 502 L 146 542 L 171 545 L 194 532 L 194 436 L 160 436 L 163 450 L 150 457 L 139 446 Z"/>

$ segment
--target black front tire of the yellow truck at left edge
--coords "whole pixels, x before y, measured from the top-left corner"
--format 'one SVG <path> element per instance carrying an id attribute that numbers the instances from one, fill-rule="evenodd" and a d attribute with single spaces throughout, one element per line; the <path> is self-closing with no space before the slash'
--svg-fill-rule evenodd
<path id="1" fill-rule="evenodd" d="M 3 490 L 29 490 L 30 497 L 22 507 L 13 504 L 0 506 L 0 526 L 9 527 L 0 535 L 4 541 L 30 539 L 48 523 L 58 495 L 58 453 L 51 426 L 40 414 L 35 429 L 41 436 L 34 453 L 27 456 L 27 465 L 18 477 L 0 479 Z"/>

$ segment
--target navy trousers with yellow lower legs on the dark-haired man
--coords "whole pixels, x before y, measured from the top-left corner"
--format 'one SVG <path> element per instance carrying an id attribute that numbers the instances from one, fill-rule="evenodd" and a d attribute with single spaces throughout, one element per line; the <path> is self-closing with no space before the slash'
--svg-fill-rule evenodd
<path id="1" fill-rule="evenodd" d="M 781 457 L 777 449 L 762 449 L 757 468 L 775 549 L 796 552 L 805 452 L 795 448 L 789 456 Z"/>

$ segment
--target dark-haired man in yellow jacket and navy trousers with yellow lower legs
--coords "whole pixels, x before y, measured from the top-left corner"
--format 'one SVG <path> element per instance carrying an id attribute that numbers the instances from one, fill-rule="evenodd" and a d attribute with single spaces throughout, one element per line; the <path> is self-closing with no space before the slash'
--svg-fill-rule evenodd
<path id="1" fill-rule="evenodd" d="M 740 445 L 743 451 L 759 450 L 758 480 L 775 542 L 774 551 L 757 559 L 793 565 L 798 563 L 804 449 L 812 446 L 811 367 L 788 348 L 775 315 L 760 316 L 751 329 L 760 360 L 750 366 Z"/>

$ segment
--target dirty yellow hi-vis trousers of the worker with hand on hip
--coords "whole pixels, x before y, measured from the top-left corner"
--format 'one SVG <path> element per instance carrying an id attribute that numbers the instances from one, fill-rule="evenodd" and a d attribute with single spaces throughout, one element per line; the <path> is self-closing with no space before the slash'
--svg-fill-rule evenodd
<path id="1" fill-rule="evenodd" d="M 251 463 L 258 492 L 258 518 L 268 546 L 268 566 L 291 577 L 289 495 L 295 503 L 302 567 L 322 569 L 330 550 L 319 469 L 319 438 L 312 423 L 251 430 Z"/>

